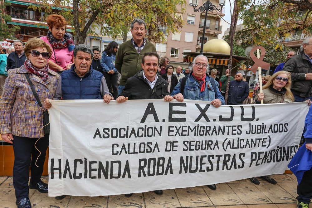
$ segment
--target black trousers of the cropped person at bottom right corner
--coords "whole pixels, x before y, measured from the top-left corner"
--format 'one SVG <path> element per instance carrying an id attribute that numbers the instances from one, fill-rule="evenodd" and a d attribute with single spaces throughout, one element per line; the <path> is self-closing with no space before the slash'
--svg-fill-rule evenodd
<path id="1" fill-rule="evenodd" d="M 312 169 L 303 174 L 300 184 L 297 186 L 297 200 L 309 204 L 312 198 Z"/>

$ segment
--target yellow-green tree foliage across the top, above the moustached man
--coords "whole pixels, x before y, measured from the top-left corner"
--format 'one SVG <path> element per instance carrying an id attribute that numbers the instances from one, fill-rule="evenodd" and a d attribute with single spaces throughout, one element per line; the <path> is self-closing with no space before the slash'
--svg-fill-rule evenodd
<path id="1" fill-rule="evenodd" d="M 72 0 L 73 9 L 64 9 L 71 5 L 70 0 L 61 0 L 51 5 L 47 0 L 39 0 L 41 5 L 33 6 L 46 12 L 63 15 L 75 27 L 75 36 L 79 43 L 85 37 L 108 35 L 113 39 L 123 37 L 129 31 L 130 23 L 135 18 L 144 19 L 147 24 L 147 38 L 150 41 L 163 41 L 165 36 L 158 30 L 158 25 L 167 27 L 167 32 L 176 32 L 183 25 L 183 20 L 175 13 L 185 11 L 185 0 Z M 62 7 L 53 11 L 53 6 Z M 177 6 L 178 5 L 178 6 Z M 101 27 L 101 25 L 104 27 Z M 99 32 L 100 29 L 100 32 Z"/>

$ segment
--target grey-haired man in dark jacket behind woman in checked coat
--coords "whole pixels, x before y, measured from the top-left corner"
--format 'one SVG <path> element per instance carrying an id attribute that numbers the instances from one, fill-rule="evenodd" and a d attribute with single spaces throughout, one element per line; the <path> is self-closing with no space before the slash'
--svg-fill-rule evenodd
<path id="1" fill-rule="evenodd" d="M 22 41 L 15 40 L 13 46 L 15 52 L 12 52 L 7 56 L 7 70 L 21 67 L 26 60 Z"/>

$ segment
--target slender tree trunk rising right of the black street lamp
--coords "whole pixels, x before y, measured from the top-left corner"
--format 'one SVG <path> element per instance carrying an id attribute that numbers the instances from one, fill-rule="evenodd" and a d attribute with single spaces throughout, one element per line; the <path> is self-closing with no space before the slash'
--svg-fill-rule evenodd
<path id="1" fill-rule="evenodd" d="M 227 88 L 225 91 L 225 104 L 227 104 L 227 95 L 229 93 L 229 86 L 230 86 L 230 78 L 231 78 L 231 73 L 232 73 L 232 56 L 233 56 L 233 41 L 234 41 L 234 35 L 235 35 L 235 30 L 236 30 L 236 24 L 238 20 L 238 8 L 237 8 L 237 0 L 234 0 L 234 7 L 233 7 L 233 14 L 231 17 L 231 26 L 230 26 L 230 31 L 229 31 L 229 41 L 230 41 L 230 57 L 229 57 L 229 75 L 227 77 Z"/>

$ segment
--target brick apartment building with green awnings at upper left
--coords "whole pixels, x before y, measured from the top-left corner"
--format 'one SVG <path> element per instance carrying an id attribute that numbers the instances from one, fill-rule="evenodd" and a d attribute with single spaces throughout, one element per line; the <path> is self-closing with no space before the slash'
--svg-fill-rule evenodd
<path id="1" fill-rule="evenodd" d="M 28 8 L 31 5 L 36 5 L 33 0 L 4 0 L 4 2 L 11 3 L 5 8 L 6 14 L 12 17 L 7 24 L 18 25 L 19 31 L 15 32 L 15 39 L 27 42 L 29 38 L 46 35 L 48 26 L 43 22 L 44 12 L 33 11 Z M 55 8 L 57 9 L 57 8 Z M 67 32 L 71 32 L 71 26 L 66 27 Z"/>

